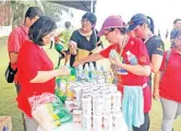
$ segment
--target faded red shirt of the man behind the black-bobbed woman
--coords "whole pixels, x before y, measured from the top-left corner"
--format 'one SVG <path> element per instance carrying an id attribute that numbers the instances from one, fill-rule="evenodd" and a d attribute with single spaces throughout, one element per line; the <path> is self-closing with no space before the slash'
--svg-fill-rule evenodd
<path id="1" fill-rule="evenodd" d="M 17 26 L 16 28 L 14 28 L 10 36 L 9 36 L 9 40 L 8 40 L 8 51 L 9 53 L 11 52 L 16 52 L 19 53 L 20 48 L 22 47 L 22 45 L 25 43 L 25 40 L 28 39 L 28 27 L 25 25 L 21 25 Z M 11 63 L 11 67 L 13 69 L 16 69 L 17 64 Z M 14 78 L 14 82 L 17 82 L 17 75 L 15 74 Z"/>

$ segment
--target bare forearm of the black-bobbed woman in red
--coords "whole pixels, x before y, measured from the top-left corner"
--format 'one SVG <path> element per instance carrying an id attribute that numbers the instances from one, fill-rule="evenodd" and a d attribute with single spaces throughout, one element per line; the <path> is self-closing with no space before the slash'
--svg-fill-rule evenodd
<path id="1" fill-rule="evenodd" d="M 37 75 L 31 80 L 31 83 L 45 83 L 59 75 L 69 75 L 70 70 L 65 67 L 52 71 L 38 71 Z"/>

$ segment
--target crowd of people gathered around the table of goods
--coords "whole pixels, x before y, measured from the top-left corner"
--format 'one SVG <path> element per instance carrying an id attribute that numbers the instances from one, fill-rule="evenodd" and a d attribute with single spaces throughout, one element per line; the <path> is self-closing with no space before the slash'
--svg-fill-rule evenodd
<path id="1" fill-rule="evenodd" d="M 171 32 L 171 48 L 165 51 L 165 44 L 155 35 L 154 20 L 143 13 L 134 14 L 129 24 L 119 15 L 108 16 L 97 32 L 97 17 L 94 13 L 82 16 L 82 27 L 70 32 L 70 22 L 65 23 L 69 33 L 64 37 L 68 49 L 56 45 L 59 53 L 70 59 L 70 67 L 77 67 L 107 58 L 114 73 L 114 84 L 123 94 L 122 112 L 125 122 L 133 131 L 148 131 L 152 118 L 152 97 L 160 98 L 162 106 L 162 131 L 172 131 L 174 119 L 181 115 L 181 28 L 179 19 L 174 21 Z M 53 93 L 56 76 L 69 75 L 70 68 L 53 69 L 44 46 L 50 44 L 57 29 L 56 22 L 45 16 L 37 7 L 31 7 L 23 25 L 14 28 L 9 36 L 8 51 L 11 67 L 17 73 L 14 84 L 17 91 L 17 106 L 23 112 L 25 131 L 36 131 L 37 123 L 32 118 L 28 98 L 43 93 Z M 96 52 L 102 46 L 100 37 L 105 36 L 110 46 Z M 61 43 L 56 37 L 55 43 Z M 104 47 L 102 47 L 104 48 Z M 110 57 L 116 50 L 119 57 Z M 131 60 L 129 57 L 135 59 Z M 65 64 L 67 64 L 65 62 Z M 117 67 L 117 68 L 113 68 Z M 152 72 L 155 76 L 152 78 Z M 154 79 L 154 84 L 152 84 Z M 153 87 L 154 86 L 154 87 Z M 153 91 L 153 93 L 152 93 Z"/>

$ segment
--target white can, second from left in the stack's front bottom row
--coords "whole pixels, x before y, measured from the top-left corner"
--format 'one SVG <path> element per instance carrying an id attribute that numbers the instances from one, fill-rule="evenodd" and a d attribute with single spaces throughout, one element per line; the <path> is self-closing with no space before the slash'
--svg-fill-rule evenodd
<path id="1" fill-rule="evenodd" d="M 92 115 L 83 114 L 82 123 L 84 130 L 92 130 Z"/>

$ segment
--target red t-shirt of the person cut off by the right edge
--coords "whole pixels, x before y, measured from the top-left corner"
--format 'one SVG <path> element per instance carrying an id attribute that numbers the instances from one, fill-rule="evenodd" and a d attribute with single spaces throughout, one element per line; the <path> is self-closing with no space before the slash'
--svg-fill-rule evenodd
<path id="1" fill-rule="evenodd" d="M 165 70 L 166 55 L 164 55 L 160 71 Z M 166 72 L 164 73 L 159 94 L 161 97 L 181 103 L 181 55 L 172 49 Z"/>

